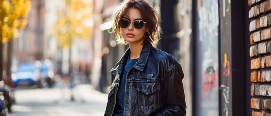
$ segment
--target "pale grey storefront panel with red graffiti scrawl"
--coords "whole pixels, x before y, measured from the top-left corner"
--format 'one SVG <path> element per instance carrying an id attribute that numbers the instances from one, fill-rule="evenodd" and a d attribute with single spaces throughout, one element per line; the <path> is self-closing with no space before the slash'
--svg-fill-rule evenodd
<path id="1" fill-rule="evenodd" d="M 218 0 L 197 0 L 194 30 L 194 116 L 219 116 Z"/>

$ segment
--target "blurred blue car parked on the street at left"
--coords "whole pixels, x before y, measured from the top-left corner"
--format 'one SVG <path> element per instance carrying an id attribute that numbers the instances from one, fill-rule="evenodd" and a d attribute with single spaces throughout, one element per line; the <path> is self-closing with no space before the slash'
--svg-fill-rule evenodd
<path id="1" fill-rule="evenodd" d="M 18 70 L 12 74 L 14 86 L 32 86 L 38 85 L 39 69 L 35 62 L 21 63 Z"/>

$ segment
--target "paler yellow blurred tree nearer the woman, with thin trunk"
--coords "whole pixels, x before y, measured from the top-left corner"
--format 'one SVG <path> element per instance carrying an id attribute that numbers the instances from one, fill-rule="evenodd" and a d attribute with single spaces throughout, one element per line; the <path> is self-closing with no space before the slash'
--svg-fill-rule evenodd
<path id="1" fill-rule="evenodd" d="M 89 0 L 64 0 L 65 8 L 58 11 L 57 22 L 53 25 L 54 35 L 60 47 L 69 49 L 74 39 L 89 39 L 93 31 L 93 2 Z M 70 72 L 70 71 L 69 71 Z"/>

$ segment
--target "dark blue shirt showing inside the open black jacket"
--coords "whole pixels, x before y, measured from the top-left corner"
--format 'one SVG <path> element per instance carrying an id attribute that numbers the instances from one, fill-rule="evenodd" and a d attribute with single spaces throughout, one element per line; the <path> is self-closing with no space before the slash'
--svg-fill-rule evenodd
<path id="1" fill-rule="evenodd" d="M 116 104 L 117 109 L 116 109 L 116 112 L 114 113 L 114 116 L 123 116 L 126 75 L 127 75 L 128 71 L 135 65 L 137 60 L 138 60 L 138 58 L 137 59 L 130 59 L 130 57 L 128 57 L 128 60 L 127 60 L 126 65 L 124 67 L 124 72 L 120 78 L 121 80 L 120 80 L 120 85 L 119 85 L 119 89 L 118 89 L 118 93 L 117 93 L 117 104 Z"/>

